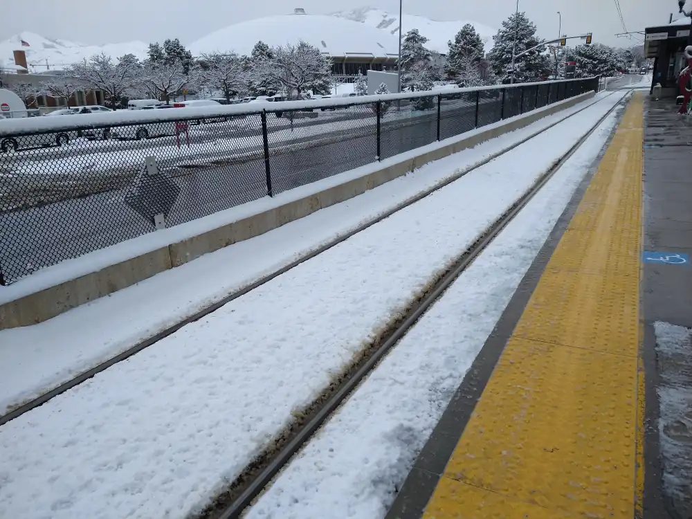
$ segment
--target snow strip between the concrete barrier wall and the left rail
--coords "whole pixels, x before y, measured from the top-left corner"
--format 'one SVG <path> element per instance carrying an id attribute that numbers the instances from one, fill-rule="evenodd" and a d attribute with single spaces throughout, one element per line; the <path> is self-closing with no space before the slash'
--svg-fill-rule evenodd
<path id="1" fill-rule="evenodd" d="M 605 95 L 601 93 L 599 98 Z M 479 163 L 592 102 L 588 100 L 540 119 L 529 127 L 446 158 L 439 167 L 423 167 L 356 199 L 205 255 L 47 322 L 0 331 L 0 413 L 125 351 L 336 235 L 357 228 L 363 221 L 443 181 L 459 165 Z M 455 167 L 443 167 L 447 163 Z M 208 276 L 208 272 L 217 276 Z M 21 289 L 27 282 L 10 288 Z M 161 293 L 167 297 L 161 298 Z"/>

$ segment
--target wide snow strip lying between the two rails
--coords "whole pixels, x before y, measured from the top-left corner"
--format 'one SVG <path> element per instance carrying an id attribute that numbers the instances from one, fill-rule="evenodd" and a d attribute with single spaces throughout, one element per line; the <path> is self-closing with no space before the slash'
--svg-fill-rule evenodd
<path id="1" fill-rule="evenodd" d="M 615 98 L 0 428 L 0 516 L 183 518 L 208 504 Z M 459 157 L 419 172 L 449 175 Z"/>

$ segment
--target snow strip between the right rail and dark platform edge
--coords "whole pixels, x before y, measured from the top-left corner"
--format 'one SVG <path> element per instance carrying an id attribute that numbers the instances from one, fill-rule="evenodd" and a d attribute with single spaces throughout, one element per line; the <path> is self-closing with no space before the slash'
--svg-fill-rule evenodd
<path id="1" fill-rule="evenodd" d="M 601 124 L 419 320 L 246 519 L 385 516 L 616 119 Z"/>

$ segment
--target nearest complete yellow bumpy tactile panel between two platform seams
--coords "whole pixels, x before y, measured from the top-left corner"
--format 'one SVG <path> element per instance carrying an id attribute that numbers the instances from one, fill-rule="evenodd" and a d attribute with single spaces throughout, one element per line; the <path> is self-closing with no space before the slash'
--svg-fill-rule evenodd
<path id="1" fill-rule="evenodd" d="M 545 517 L 632 519 L 636 420 L 636 357 L 512 338 L 444 477 Z"/>

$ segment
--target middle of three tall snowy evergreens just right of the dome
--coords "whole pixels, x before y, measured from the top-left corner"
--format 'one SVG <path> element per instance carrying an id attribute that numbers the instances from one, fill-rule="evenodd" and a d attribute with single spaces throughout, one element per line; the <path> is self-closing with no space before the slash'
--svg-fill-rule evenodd
<path id="1" fill-rule="evenodd" d="M 448 78 L 457 80 L 459 86 L 478 86 L 480 79 L 480 61 L 484 56 L 483 40 L 471 24 L 466 24 L 454 37 L 454 42 L 447 42 L 447 64 L 445 72 Z"/>

